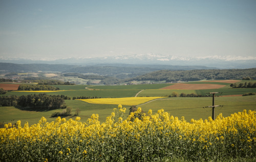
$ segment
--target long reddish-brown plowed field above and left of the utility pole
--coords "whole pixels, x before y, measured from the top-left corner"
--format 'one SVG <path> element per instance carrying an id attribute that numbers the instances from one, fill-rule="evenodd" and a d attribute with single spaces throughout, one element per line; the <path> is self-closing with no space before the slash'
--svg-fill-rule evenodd
<path id="1" fill-rule="evenodd" d="M 225 85 L 213 85 L 213 84 L 183 84 L 178 83 L 172 86 L 167 86 L 161 89 L 164 90 L 206 90 L 206 89 L 218 89 L 225 87 Z"/>

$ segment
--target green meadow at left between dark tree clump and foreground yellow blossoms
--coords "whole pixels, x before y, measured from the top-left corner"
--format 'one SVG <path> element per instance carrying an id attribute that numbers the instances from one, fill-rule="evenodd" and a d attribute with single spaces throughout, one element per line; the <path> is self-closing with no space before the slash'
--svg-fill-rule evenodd
<path id="1" fill-rule="evenodd" d="M 118 105 L 111 105 L 111 104 L 90 104 L 87 102 L 82 102 L 79 100 L 65 100 L 68 107 L 72 107 L 72 116 L 65 117 L 67 120 L 73 119 L 77 116 L 74 116 L 76 110 L 79 109 L 79 117 L 81 118 L 82 122 L 86 122 L 92 114 L 99 115 L 99 121 L 105 122 L 106 117 L 110 116 L 113 112 L 114 108 L 118 108 Z M 125 107 L 125 105 L 123 106 Z M 124 118 L 127 117 L 129 114 L 129 108 L 131 106 L 126 106 L 126 114 L 124 114 Z M 47 122 L 55 121 L 56 118 L 51 118 L 51 115 L 54 112 L 62 112 L 65 109 L 56 109 L 51 111 L 41 111 L 41 107 L 34 107 L 34 111 L 24 111 L 19 110 L 13 106 L 0 106 L 0 122 L 1 123 L 16 123 L 18 120 L 22 122 L 22 126 L 26 122 L 29 125 L 36 124 L 41 119 L 41 117 L 45 117 Z M 127 113 L 128 112 L 128 113 Z"/>

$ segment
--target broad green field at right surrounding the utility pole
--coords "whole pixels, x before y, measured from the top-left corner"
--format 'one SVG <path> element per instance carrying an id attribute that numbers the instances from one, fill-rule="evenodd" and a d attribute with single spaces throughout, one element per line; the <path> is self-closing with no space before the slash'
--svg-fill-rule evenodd
<path id="1" fill-rule="evenodd" d="M 153 114 L 163 109 L 179 119 L 184 116 L 185 120 L 190 122 L 191 119 L 202 118 L 205 120 L 211 117 L 212 109 L 210 107 L 203 108 L 211 105 L 212 97 L 171 97 L 148 102 L 140 107 L 146 113 L 151 109 Z M 215 108 L 215 117 L 220 113 L 227 117 L 233 113 L 243 112 L 243 110 L 256 110 L 255 96 L 216 97 L 215 105 L 224 105 Z"/>

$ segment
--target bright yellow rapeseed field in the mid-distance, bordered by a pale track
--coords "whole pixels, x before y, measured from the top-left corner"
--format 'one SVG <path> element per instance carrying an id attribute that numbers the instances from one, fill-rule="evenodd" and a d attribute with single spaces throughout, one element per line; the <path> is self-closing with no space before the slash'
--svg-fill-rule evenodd
<path id="1" fill-rule="evenodd" d="M 94 104 L 122 104 L 122 105 L 138 105 L 151 100 L 163 97 L 124 97 L 124 98 L 94 98 L 94 99 L 78 99 Z"/>

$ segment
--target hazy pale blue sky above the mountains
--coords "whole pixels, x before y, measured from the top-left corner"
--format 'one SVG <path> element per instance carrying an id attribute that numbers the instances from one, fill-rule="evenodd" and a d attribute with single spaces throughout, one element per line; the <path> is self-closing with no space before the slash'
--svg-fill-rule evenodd
<path id="1" fill-rule="evenodd" d="M 0 57 L 256 56 L 256 1 L 0 0 Z"/>

